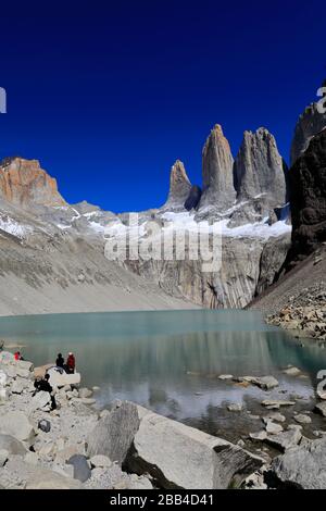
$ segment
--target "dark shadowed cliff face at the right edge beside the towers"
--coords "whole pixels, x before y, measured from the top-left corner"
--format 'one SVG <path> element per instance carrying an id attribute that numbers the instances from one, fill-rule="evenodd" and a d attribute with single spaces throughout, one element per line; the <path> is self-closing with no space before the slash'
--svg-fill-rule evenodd
<path id="1" fill-rule="evenodd" d="M 292 257 L 326 240 L 326 129 L 316 135 L 290 171 Z"/>

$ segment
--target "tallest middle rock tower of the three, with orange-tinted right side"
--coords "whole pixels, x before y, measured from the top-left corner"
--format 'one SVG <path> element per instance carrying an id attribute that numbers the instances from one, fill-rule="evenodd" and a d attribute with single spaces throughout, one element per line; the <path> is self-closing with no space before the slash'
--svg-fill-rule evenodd
<path id="1" fill-rule="evenodd" d="M 236 200 L 233 166 L 234 159 L 229 144 L 223 135 L 222 127 L 216 124 L 202 152 L 201 209 L 214 207 L 223 210 L 233 205 Z"/>

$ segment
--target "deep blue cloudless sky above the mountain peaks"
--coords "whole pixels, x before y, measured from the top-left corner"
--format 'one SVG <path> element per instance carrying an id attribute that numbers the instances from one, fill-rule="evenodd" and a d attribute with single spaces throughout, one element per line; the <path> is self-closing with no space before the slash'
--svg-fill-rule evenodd
<path id="1" fill-rule="evenodd" d="M 266 126 L 288 160 L 326 76 L 323 1 L 3 2 L 0 158 L 39 159 L 70 202 L 164 202 L 173 162 L 201 183 L 215 123 L 234 154 Z"/>

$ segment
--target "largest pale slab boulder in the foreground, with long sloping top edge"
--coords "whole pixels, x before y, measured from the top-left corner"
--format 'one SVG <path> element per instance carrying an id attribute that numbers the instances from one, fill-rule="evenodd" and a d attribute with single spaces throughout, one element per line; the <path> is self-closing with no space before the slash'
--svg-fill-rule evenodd
<path id="1" fill-rule="evenodd" d="M 138 407 L 140 426 L 127 466 L 163 488 L 239 486 L 264 460 L 241 447 Z"/>

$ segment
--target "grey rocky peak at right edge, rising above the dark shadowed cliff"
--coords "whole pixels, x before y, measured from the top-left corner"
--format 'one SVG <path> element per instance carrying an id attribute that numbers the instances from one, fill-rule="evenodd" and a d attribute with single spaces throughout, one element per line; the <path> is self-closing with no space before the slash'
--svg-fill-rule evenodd
<path id="1" fill-rule="evenodd" d="M 323 84 L 326 87 L 326 80 Z M 317 103 L 312 103 L 300 115 L 291 146 L 291 165 L 308 149 L 313 136 L 326 127 L 326 113 L 321 113 Z"/>

